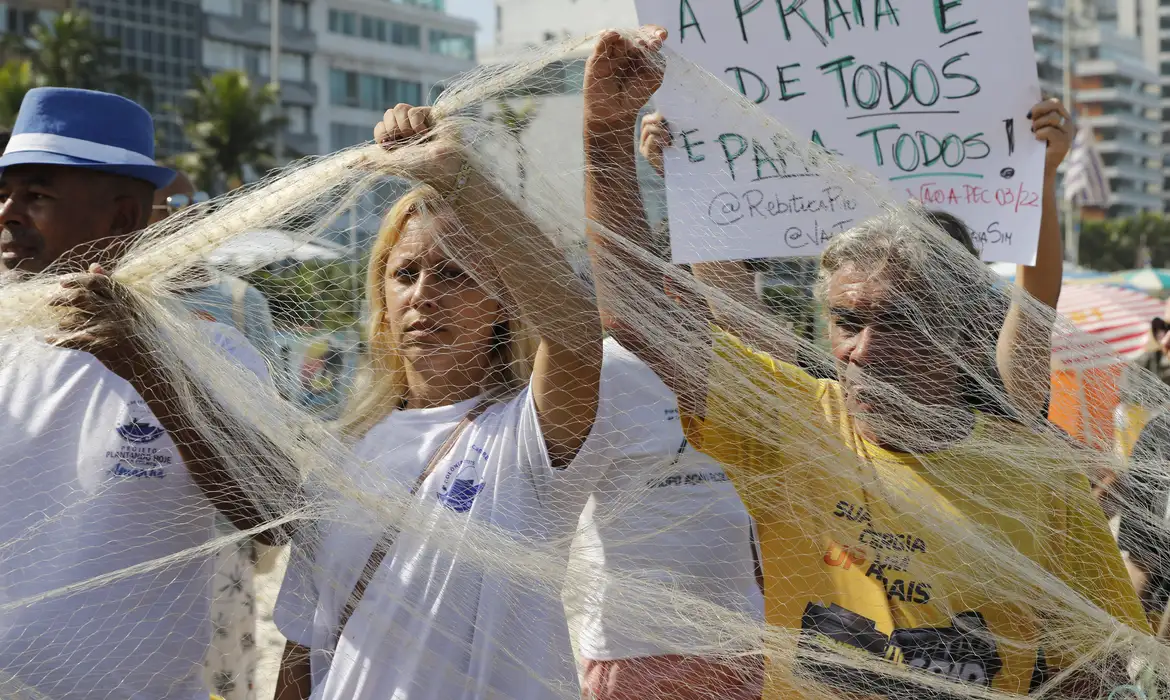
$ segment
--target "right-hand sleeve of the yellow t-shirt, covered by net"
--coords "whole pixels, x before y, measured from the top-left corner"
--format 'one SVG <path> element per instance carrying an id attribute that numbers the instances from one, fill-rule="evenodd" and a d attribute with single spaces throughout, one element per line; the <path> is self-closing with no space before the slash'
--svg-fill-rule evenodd
<path id="1" fill-rule="evenodd" d="M 1101 508 L 1089 493 L 1088 479 L 1078 476 L 1071 500 L 1054 505 L 1054 541 L 1048 544 L 1049 571 L 1094 605 L 1134 630 L 1150 633 L 1150 625 L 1137 601 Z M 1052 637 L 1049 631 L 1048 637 Z M 1088 650 L 1051 648 L 1045 652 L 1055 668 L 1071 666 Z M 1078 653 L 1080 652 L 1080 653 Z M 1088 652 L 1092 653 L 1092 652 Z"/>

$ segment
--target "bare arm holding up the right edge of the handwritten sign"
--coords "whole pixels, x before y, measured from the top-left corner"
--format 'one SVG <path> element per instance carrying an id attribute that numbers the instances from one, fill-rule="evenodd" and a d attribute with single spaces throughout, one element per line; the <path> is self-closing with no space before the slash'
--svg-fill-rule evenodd
<path id="1" fill-rule="evenodd" d="M 1028 417 L 1040 416 L 1051 391 L 1052 323 L 1030 310 L 1020 293 L 1027 293 L 1055 309 L 1064 276 L 1064 251 L 1057 203 L 1057 167 L 1068 153 L 1075 131 L 1059 101 L 1032 108 L 1032 130 L 1047 143 L 1040 240 L 1035 265 L 1021 265 L 1016 273 L 1016 294 L 996 348 L 996 364 L 1016 406 Z"/>

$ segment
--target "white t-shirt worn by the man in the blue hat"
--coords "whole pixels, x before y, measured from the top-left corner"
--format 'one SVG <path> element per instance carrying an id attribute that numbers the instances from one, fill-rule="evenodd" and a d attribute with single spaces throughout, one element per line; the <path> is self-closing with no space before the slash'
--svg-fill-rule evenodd
<path id="1" fill-rule="evenodd" d="M 211 335 L 267 377 L 239 332 Z M 121 574 L 212 536 L 174 442 L 89 354 L 7 338 L 0 357 L 0 696 L 206 700 L 209 561 Z"/>

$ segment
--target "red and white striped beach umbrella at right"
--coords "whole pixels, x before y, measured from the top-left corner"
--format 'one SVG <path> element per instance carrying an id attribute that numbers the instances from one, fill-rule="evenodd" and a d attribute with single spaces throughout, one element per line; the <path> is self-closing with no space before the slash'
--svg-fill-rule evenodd
<path id="1" fill-rule="evenodd" d="M 1083 332 L 1059 334 L 1052 352 L 1066 366 L 1083 366 L 1136 359 L 1163 302 L 1110 284 L 1065 284 L 1057 310 Z"/>

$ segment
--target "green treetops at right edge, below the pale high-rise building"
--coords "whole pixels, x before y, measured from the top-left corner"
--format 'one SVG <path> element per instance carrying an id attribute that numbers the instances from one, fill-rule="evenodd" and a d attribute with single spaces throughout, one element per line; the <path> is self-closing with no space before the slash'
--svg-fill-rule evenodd
<path id="1" fill-rule="evenodd" d="M 1170 220 L 1161 214 L 1086 221 L 1081 226 L 1080 265 L 1100 272 L 1133 269 L 1142 246 L 1154 267 L 1170 266 Z"/>

